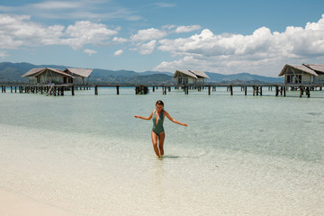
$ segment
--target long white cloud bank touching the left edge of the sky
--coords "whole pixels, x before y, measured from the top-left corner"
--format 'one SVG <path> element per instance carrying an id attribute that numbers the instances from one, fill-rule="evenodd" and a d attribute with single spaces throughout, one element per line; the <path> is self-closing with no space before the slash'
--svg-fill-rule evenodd
<path id="1" fill-rule="evenodd" d="M 72 49 L 82 49 L 85 44 L 103 46 L 118 33 L 103 23 L 78 21 L 73 25 L 43 26 L 30 21 L 26 15 L 0 14 L 0 48 L 18 49 L 43 45 L 68 45 Z"/>

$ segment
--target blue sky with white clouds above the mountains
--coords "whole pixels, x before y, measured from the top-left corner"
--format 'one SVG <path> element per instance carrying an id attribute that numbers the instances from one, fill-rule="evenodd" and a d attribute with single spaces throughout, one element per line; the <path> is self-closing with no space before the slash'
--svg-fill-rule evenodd
<path id="1" fill-rule="evenodd" d="M 0 61 L 277 76 L 324 64 L 324 1 L 0 2 Z"/>

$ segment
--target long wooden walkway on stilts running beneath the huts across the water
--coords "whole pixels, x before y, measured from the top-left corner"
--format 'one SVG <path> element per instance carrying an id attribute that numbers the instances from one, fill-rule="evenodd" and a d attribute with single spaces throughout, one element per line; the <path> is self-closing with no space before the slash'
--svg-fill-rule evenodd
<path id="1" fill-rule="evenodd" d="M 279 94 L 286 96 L 287 91 L 299 91 L 300 97 L 303 94 L 306 94 L 307 97 L 311 96 L 311 91 L 322 91 L 324 85 L 203 85 L 199 87 L 191 86 L 175 86 L 175 85 L 1 85 L 2 93 L 5 93 L 6 89 L 10 87 L 11 93 L 21 93 L 21 94 L 46 94 L 46 95 L 64 95 L 65 92 L 69 91 L 72 95 L 75 95 L 76 90 L 91 90 L 94 88 L 94 95 L 98 95 L 98 88 L 100 87 L 114 87 L 116 88 L 116 94 L 120 94 L 120 87 L 134 87 L 135 94 L 147 94 L 148 87 L 152 88 L 152 91 L 155 92 L 158 87 L 162 88 L 162 94 L 166 92 L 171 92 L 171 88 L 174 89 L 183 89 L 184 94 L 189 94 L 189 89 L 196 89 L 198 92 L 202 89 L 208 89 L 208 94 L 211 94 L 211 91 L 216 91 L 217 87 L 226 87 L 230 95 L 234 94 L 233 88 L 240 87 L 240 91 L 244 92 L 247 95 L 247 88 L 252 88 L 252 95 L 263 94 L 263 89 L 268 88 L 268 91 L 275 90 L 275 96 Z"/>

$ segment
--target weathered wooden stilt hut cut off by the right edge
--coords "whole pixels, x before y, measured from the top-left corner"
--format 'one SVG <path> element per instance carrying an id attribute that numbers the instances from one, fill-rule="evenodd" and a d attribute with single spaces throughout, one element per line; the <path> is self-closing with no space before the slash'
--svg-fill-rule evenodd
<path id="1" fill-rule="evenodd" d="M 284 84 L 324 84 L 324 65 L 285 65 L 279 76 Z"/>

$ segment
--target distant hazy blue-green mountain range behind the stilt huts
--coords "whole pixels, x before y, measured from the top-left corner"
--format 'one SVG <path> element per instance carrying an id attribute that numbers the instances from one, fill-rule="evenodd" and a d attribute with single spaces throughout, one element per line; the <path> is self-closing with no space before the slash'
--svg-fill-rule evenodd
<path id="1" fill-rule="evenodd" d="M 32 68 L 50 67 L 64 70 L 67 66 L 58 65 L 32 65 L 30 63 L 0 62 L 0 83 L 28 83 L 28 78 L 22 77 L 24 73 Z M 240 73 L 233 75 L 221 75 L 206 72 L 210 79 L 207 83 L 221 84 L 262 84 L 282 83 L 282 78 L 251 75 Z M 175 84 L 173 73 L 170 72 L 135 72 L 132 70 L 106 70 L 94 68 L 89 82 L 95 84 L 130 84 L 130 85 L 172 85 Z"/>

